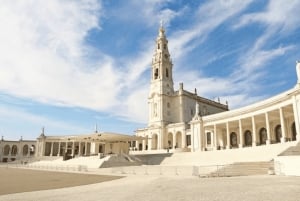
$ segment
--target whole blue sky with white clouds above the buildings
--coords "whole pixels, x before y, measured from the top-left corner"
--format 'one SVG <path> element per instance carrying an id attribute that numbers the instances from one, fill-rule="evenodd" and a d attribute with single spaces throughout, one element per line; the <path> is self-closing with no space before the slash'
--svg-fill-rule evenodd
<path id="1" fill-rule="evenodd" d="M 231 109 L 292 88 L 298 0 L 3 0 L 0 135 L 35 139 L 146 126 L 160 20 L 174 88 Z"/>

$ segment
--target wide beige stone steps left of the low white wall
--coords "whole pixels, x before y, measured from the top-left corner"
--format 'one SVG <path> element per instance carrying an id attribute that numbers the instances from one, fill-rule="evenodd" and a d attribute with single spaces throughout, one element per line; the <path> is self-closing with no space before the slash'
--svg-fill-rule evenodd
<path id="1" fill-rule="evenodd" d="M 263 162 L 239 162 L 220 166 L 217 171 L 207 175 L 208 177 L 231 177 L 231 176 L 249 176 L 266 175 L 269 170 L 274 169 L 273 161 Z"/>

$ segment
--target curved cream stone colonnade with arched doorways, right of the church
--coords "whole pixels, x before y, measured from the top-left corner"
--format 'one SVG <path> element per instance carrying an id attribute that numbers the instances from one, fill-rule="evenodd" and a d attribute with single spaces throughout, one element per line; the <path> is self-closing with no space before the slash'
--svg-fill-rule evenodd
<path id="1" fill-rule="evenodd" d="M 215 122 L 207 121 L 204 117 L 202 149 L 243 148 L 300 140 L 299 122 L 295 119 L 298 117 L 293 103 Z M 213 135 L 212 142 L 209 135 Z"/>

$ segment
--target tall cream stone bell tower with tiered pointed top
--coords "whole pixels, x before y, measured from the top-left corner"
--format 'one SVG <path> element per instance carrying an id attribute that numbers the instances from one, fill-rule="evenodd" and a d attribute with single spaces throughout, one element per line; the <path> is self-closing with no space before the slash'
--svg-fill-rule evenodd
<path id="1" fill-rule="evenodd" d="M 167 107 L 174 94 L 172 60 L 168 49 L 168 40 L 161 23 L 156 39 L 151 66 L 151 84 L 148 98 L 149 126 L 163 126 L 170 122 Z"/>

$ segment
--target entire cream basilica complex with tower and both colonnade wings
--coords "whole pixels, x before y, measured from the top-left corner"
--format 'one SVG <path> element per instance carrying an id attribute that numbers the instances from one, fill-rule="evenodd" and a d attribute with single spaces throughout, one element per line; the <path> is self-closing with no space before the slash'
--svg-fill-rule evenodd
<path id="1" fill-rule="evenodd" d="M 135 135 L 94 133 L 46 136 L 36 141 L 0 140 L 0 161 L 24 157 L 69 158 L 108 154 L 201 152 L 243 149 L 300 141 L 300 62 L 298 81 L 281 94 L 230 110 L 228 104 L 174 89 L 173 63 L 160 26 L 151 65 L 147 127 Z"/>

